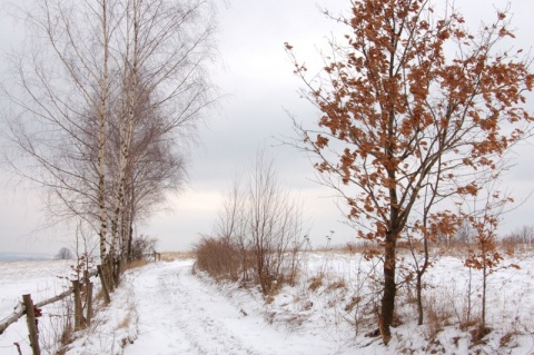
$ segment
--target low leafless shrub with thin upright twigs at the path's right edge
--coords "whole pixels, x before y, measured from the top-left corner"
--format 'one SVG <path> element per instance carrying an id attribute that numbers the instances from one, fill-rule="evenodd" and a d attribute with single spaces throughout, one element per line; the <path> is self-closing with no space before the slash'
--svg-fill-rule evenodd
<path id="1" fill-rule="evenodd" d="M 295 276 L 297 252 L 303 244 L 304 223 L 298 198 L 278 181 L 274 161 L 259 151 L 244 176 L 237 176 L 215 226 L 218 240 L 206 238 L 197 246 L 199 265 L 229 268 L 214 258 L 238 253 L 243 280 L 254 270 L 264 295 L 269 295 L 287 277 Z M 221 252 L 214 253 L 217 246 Z M 227 253 L 222 255 L 222 250 Z M 235 258 L 231 256 L 231 258 Z M 217 274 L 217 270 L 209 270 Z M 222 270 L 221 270 L 222 272 Z"/>

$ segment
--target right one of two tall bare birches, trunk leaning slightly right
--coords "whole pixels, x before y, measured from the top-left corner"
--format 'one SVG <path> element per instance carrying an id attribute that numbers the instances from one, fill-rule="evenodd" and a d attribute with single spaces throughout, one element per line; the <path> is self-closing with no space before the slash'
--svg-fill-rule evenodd
<path id="1" fill-rule="evenodd" d="M 135 160 L 135 130 L 148 111 L 161 112 L 156 139 L 181 137 L 196 126 L 211 103 L 206 63 L 211 60 L 214 33 L 209 2 L 204 0 L 130 0 L 125 3 L 125 50 L 121 52 L 121 98 L 118 111 L 119 155 L 110 254 L 116 254 L 126 210 L 127 172 Z M 170 110 L 169 110 L 170 109 Z M 131 169 L 130 169 L 131 170 Z"/>

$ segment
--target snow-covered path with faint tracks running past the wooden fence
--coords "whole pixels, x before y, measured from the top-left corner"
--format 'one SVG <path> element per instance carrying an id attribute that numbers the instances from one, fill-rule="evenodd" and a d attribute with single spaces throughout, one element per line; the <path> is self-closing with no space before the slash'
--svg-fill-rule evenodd
<path id="1" fill-rule="evenodd" d="M 246 316 L 212 285 L 192 276 L 191 263 L 139 270 L 132 287 L 139 336 L 125 355 L 332 353 L 323 342 L 314 348 L 309 338 L 284 334 L 259 317 Z"/>

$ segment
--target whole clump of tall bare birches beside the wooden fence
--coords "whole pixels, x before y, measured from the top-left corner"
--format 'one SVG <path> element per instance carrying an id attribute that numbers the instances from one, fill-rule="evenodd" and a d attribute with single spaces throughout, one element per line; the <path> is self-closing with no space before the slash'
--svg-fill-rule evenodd
<path id="1" fill-rule="evenodd" d="M 195 127 L 215 102 L 214 9 L 46 0 L 26 14 L 33 41 L 13 57 L 4 90 L 13 167 L 48 188 L 52 215 L 93 227 L 110 270 L 136 218 L 182 181 Z"/>

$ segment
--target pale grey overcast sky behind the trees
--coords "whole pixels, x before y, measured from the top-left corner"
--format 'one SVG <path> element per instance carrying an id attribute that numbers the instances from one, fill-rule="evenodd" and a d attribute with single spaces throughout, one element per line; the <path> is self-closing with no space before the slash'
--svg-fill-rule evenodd
<path id="1" fill-rule="evenodd" d="M 314 244 L 324 244 L 329 230 L 335 231 L 336 244 L 354 240 L 354 231 L 340 223 L 343 216 L 330 198 L 332 193 L 312 181 L 314 171 L 307 158 L 278 144 L 280 138 L 293 134 L 286 110 L 305 122 L 317 118 L 314 108 L 297 93 L 300 82 L 293 76 L 284 42 L 290 42 L 307 62 L 317 63 L 317 48 L 324 46 L 330 33 L 339 33 L 339 28 L 319 12 L 318 6 L 337 13 L 349 7 L 349 1 L 219 1 L 218 47 L 222 65 L 214 79 L 227 93 L 226 98 L 200 128 L 200 142 L 192 149 L 185 191 L 171 197 L 166 210 L 156 214 L 138 231 L 158 237 L 161 250 L 190 248 L 199 235 L 211 231 L 234 172 L 246 167 L 259 147 L 267 147 L 276 159 L 280 179 L 305 199 Z M 494 7 L 503 8 L 505 3 L 469 0 L 462 1 L 459 8 L 469 23 L 477 24 L 492 16 Z M 534 12 L 534 2 L 514 0 L 511 11 L 518 46 L 533 47 L 534 21 L 530 14 Z M 20 31 L 4 13 L 0 17 L 0 50 L 7 51 L 16 46 L 13 39 Z M 517 151 L 516 166 L 506 180 L 518 199 L 534 188 L 532 149 L 532 145 L 525 145 Z M 37 191 L 14 187 L 4 174 L 0 175 L 0 252 L 55 254 L 61 246 L 71 245 L 68 233 L 61 228 L 39 229 L 44 217 Z M 502 229 L 533 224 L 532 216 L 534 199 L 531 198 L 506 216 Z"/>

